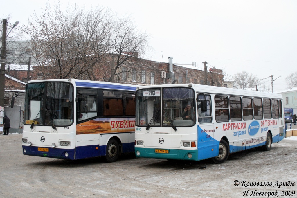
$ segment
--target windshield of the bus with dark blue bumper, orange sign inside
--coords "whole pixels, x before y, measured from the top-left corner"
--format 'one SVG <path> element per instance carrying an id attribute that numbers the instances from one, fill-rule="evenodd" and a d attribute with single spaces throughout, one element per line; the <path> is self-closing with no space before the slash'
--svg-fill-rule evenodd
<path id="1" fill-rule="evenodd" d="M 24 124 L 69 126 L 73 123 L 73 104 L 70 83 L 27 84 Z"/>

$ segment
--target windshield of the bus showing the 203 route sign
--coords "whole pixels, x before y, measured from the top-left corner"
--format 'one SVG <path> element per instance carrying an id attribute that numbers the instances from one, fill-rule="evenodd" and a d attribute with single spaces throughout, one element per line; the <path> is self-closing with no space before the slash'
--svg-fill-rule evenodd
<path id="1" fill-rule="evenodd" d="M 138 126 L 174 128 L 196 123 L 195 95 L 191 88 L 162 88 L 162 94 L 161 88 L 138 90 L 136 108 Z"/>

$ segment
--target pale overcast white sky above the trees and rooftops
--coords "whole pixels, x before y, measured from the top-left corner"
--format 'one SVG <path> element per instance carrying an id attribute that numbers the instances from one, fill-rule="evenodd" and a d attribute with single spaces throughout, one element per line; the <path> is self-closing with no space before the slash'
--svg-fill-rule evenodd
<path id="1" fill-rule="evenodd" d="M 53 4 L 54 1 L 49 1 Z M 60 1 L 66 5 L 68 1 Z M 285 78 L 297 71 L 297 1 L 69 1 L 86 8 L 104 6 L 118 15 L 131 14 L 140 31 L 151 39 L 144 58 L 191 66 L 208 62 L 222 69 L 225 80 L 247 71 L 265 80 L 274 93 L 287 88 Z M 34 12 L 41 14 L 46 1 L 1 2 L 2 18 L 26 25 Z M 279 77 L 281 76 L 281 77 Z M 278 78 L 279 77 L 279 78 Z M 261 85 L 262 86 L 262 85 Z"/>

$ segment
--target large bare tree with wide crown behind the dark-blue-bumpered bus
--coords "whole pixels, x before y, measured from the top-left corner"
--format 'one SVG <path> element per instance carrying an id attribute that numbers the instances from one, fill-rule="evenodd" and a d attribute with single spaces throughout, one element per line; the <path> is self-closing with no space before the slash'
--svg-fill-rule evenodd
<path id="1" fill-rule="evenodd" d="M 110 11 L 96 7 L 89 12 L 70 7 L 53 11 L 47 4 L 43 14 L 29 21 L 32 52 L 44 78 L 93 80 L 92 67 L 110 50 Z"/>

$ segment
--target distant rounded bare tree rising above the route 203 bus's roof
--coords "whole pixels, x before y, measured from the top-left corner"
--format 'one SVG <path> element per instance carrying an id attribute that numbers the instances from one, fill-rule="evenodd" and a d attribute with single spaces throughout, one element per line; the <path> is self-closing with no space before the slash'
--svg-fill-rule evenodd
<path id="1" fill-rule="evenodd" d="M 233 80 L 235 81 L 234 86 L 238 89 L 242 88 L 255 88 L 260 83 L 257 75 L 249 74 L 246 71 L 238 72 L 234 75 Z"/>

